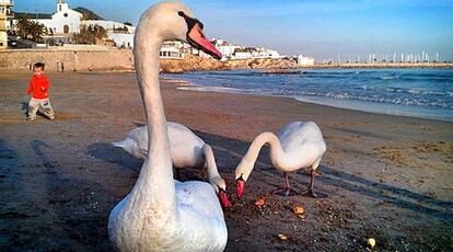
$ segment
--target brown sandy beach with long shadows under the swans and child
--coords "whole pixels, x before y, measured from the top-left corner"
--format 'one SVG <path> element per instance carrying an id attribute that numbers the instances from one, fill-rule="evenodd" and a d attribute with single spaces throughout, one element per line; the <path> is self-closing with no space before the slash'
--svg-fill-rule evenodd
<path id="1" fill-rule="evenodd" d="M 34 123 L 24 114 L 30 77 L 0 73 L 0 250 L 109 251 L 108 214 L 142 164 L 111 145 L 144 124 L 136 76 L 49 73 L 56 121 Z M 167 121 L 210 144 L 226 180 L 226 251 L 363 251 L 369 238 L 379 251 L 453 248 L 453 123 L 161 84 Z M 265 148 L 239 201 L 233 171 L 249 142 L 291 121 L 323 130 L 327 151 L 315 186 L 328 197 L 272 195 L 283 177 Z M 187 169 L 183 179 L 206 176 Z M 298 191 L 309 181 L 304 172 L 290 175 Z M 303 218 L 293 206 L 304 208 Z"/>

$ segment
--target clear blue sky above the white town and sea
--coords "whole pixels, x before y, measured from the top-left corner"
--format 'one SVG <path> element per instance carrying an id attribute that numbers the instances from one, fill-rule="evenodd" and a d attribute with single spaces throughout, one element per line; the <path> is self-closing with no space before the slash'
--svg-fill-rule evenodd
<path id="1" fill-rule="evenodd" d="M 14 11 L 53 13 L 57 0 L 15 0 Z M 153 0 L 66 0 L 137 24 Z M 208 37 L 316 59 L 440 53 L 453 60 L 453 0 L 187 0 Z"/>

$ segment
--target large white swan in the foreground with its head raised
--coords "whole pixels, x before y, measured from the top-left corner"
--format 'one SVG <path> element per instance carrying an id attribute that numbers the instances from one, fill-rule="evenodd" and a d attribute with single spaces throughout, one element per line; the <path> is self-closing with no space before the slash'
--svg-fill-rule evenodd
<path id="1" fill-rule="evenodd" d="M 222 251 L 226 245 L 226 225 L 212 187 L 173 180 L 159 85 L 160 48 L 164 41 L 187 41 L 221 58 L 202 35 L 201 23 L 190 16 L 182 3 L 158 3 L 141 15 L 136 30 L 133 56 L 147 116 L 149 158 L 132 191 L 108 218 L 108 237 L 119 251 Z"/>

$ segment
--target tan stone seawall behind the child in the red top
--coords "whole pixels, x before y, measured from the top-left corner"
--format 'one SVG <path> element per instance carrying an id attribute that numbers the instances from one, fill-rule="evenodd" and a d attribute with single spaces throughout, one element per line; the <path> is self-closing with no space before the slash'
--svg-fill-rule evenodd
<path id="1" fill-rule="evenodd" d="M 65 64 L 65 71 L 132 70 L 133 56 L 128 49 L 108 50 L 55 50 L 21 49 L 1 50 L 0 69 L 25 70 L 35 62 L 46 64 L 46 71 L 57 71 Z"/>

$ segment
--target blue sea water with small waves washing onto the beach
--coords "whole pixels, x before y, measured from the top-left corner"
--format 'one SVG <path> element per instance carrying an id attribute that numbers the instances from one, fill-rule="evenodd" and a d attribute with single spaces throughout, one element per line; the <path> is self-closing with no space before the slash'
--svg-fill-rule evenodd
<path id="1" fill-rule="evenodd" d="M 302 69 L 197 71 L 165 77 L 198 91 L 279 95 L 373 113 L 453 122 L 453 69 Z"/>

